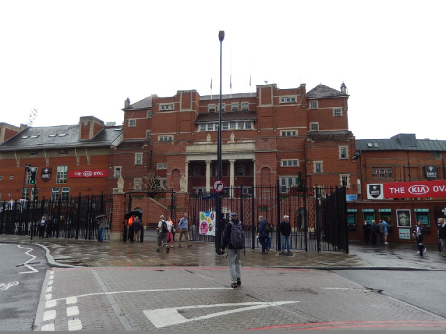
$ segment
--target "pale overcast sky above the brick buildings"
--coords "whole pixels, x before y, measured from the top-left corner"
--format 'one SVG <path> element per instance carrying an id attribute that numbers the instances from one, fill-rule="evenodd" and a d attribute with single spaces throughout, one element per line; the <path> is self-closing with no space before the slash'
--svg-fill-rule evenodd
<path id="1" fill-rule="evenodd" d="M 357 139 L 446 140 L 446 1 L 1 1 L 0 122 L 123 121 L 124 100 L 317 84 Z M 249 86 L 249 76 L 252 86 Z"/>

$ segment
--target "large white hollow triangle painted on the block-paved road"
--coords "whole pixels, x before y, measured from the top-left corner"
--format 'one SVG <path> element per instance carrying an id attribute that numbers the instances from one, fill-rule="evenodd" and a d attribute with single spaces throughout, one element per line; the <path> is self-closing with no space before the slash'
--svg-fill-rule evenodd
<path id="1" fill-rule="evenodd" d="M 271 306 L 279 306 L 289 303 L 299 303 L 299 301 L 273 301 L 273 302 L 247 302 L 247 303 L 226 303 L 226 304 L 213 304 L 213 305 L 191 305 L 191 306 L 180 306 L 178 308 L 157 308 L 154 310 L 144 310 L 144 315 L 149 319 L 152 324 L 157 327 L 166 327 L 176 324 L 183 324 L 185 322 L 197 321 L 203 319 L 210 319 L 214 317 L 220 317 L 224 315 L 230 315 L 236 312 L 245 312 L 249 310 L 257 310 L 259 308 L 268 308 Z M 206 315 L 201 315 L 199 317 L 189 318 L 180 315 L 178 310 L 190 310 L 194 308 L 217 308 L 217 307 L 227 307 L 227 306 L 247 306 L 245 308 L 235 308 L 232 310 L 226 310 L 221 312 L 210 313 Z"/>

